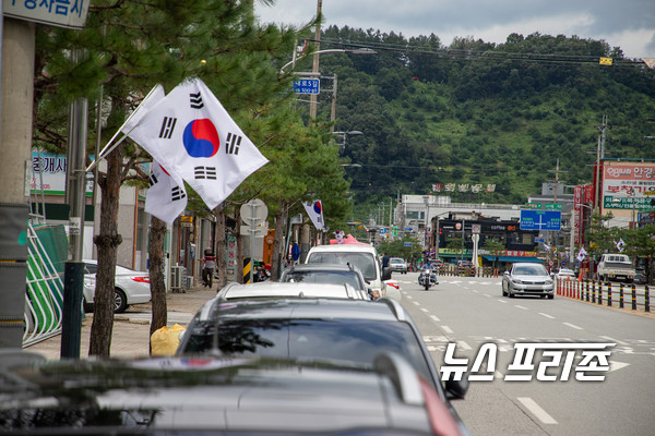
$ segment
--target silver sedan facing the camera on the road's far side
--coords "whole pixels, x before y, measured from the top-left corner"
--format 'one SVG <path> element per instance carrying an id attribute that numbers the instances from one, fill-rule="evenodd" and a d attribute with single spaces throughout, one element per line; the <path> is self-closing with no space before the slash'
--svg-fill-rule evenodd
<path id="1" fill-rule="evenodd" d="M 553 299 L 555 281 L 541 264 L 516 263 L 502 275 L 502 294 L 509 298 L 519 294 Z"/>

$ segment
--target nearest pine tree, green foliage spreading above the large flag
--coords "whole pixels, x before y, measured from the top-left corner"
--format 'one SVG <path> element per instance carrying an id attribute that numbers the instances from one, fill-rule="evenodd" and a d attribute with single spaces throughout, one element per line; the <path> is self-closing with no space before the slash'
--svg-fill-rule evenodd
<path id="1" fill-rule="evenodd" d="M 104 145 L 155 83 L 170 90 L 193 75 L 205 81 L 228 111 L 257 111 L 272 104 L 288 84 L 279 78 L 277 69 L 288 57 L 296 31 L 262 27 L 252 16 L 252 2 L 248 1 L 98 0 L 90 5 L 82 31 L 39 27 L 35 144 L 62 153 L 68 104 L 83 97 L 97 101 L 90 117 L 88 143 Z M 69 53 L 75 49 L 84 55 L 81 62 L 72 64 Z M 103 126 L 102 132 L 96 125 Z M 94 238 L 99 268 L 92 355 L 109 355 L 114 266 L 122 241 L 117 225 L 119 190 L 126 180 L 145 177 L 138 167 L 144 158 L 148 159 L 139 147 L 120 145 L 107 156 L 106 170 L 96 180 L 102 206 L 99 234 Z M 155 280 L 154 286 L 163 287 L 163 280 Z M 159 304 L 160 299 L 156 301 Z"/>

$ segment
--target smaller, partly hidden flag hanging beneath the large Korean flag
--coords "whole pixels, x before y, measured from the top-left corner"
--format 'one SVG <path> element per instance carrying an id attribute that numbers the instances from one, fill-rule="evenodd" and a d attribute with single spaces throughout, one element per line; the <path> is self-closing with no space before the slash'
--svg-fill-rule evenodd
<path id="1" fill-rule="evenodd" d="M 153 161 L 150 189 L 145 194 L 145 211 L 169 225 L 187 208 L 184 182 Z"/>

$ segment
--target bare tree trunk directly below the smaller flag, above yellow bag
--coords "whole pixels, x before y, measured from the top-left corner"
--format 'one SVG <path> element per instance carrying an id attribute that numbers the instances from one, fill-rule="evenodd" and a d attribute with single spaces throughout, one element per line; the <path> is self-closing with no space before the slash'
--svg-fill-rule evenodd
<path id="1" fill-rule="evenodd" d="M 152 294 L 152 320 L 150 336 L 168 323 L 166 307 L 166 283 L 164 282 L 164 238 L 166 222 L 157 217 L 151 219 L 148 276 Z M 150 342 L 150 341 L 148 341 Z M 148 348 L 150 349 L 150 348 Z M 150 349 L 152 353 L 152 349 Z"/>

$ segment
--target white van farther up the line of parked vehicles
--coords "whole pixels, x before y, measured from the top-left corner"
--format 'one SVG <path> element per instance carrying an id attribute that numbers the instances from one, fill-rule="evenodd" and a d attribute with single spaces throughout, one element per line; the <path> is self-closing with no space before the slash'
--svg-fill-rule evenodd
<path id="1" fill-rule="evenodd" d="M 331 244 L 312 247 L 305 259 L 306 264 L 352 264 L 361 270 L 367 284 L 380 296 L 401 300 L 401 292 L 384 284 L 391 278 L 391 269 L 380 265 L 378 251 L 372 245 Z"/>

